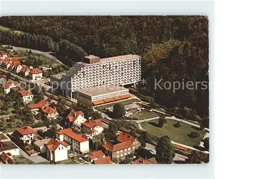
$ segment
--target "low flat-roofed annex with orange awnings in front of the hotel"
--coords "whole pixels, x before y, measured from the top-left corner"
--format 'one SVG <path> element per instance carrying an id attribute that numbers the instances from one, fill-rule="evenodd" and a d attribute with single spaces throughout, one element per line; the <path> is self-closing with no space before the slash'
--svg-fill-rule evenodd
<path id="1" fill-rule="evenodd" d="M 78 96 L 91 100 L 94 105 L 101 105 L 131 97 L 129 89 L 114 84 L 78 89 L 75 93 Z"/>

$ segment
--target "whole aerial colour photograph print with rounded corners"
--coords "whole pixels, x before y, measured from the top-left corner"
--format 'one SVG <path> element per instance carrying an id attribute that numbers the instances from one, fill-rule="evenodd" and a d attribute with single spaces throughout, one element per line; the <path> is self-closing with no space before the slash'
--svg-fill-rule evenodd
<path id="1" fill-rule="evenodd" d="M 208 163 L 208 27 L 0 17 L 0 164 Z"/>

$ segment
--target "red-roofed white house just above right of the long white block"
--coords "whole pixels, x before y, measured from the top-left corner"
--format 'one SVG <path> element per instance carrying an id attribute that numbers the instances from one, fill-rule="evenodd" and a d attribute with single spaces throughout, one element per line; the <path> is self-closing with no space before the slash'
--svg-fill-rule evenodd
<path id="1" fill-rule="evenodd" d="M 88 139 L 92 139 L 93 136 L 102 133 L 103 129 L 100 119 L 88 120 L 82 123 L 82 132 L 86 131 L 84 135 L 86 135 Z"/>

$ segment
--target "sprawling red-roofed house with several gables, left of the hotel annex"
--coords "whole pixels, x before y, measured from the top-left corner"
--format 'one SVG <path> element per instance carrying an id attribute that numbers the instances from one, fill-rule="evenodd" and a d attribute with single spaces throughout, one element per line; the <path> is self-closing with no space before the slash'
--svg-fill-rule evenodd
<path id="1" fill-rule="evenodd" d="M 40 100 L 37 104 L 29 105 L 29 108 L 35 114 L 41 113 L 48 118 L 56 119 L 59 115 L 53 105 L 44 99 Z"/>

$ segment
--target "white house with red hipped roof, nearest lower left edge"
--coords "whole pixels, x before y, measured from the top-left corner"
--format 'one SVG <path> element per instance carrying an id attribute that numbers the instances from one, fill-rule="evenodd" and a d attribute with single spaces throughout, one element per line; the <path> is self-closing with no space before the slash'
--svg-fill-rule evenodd
<path id="1" fill-rule="evenodd" d="M 31 141 L 34 139 L 35 131 L 30 126 L 22 126 L 16 129 L 17 136 L 20 140 L 23 140 L 23 142 L 31 143 Z"/>

